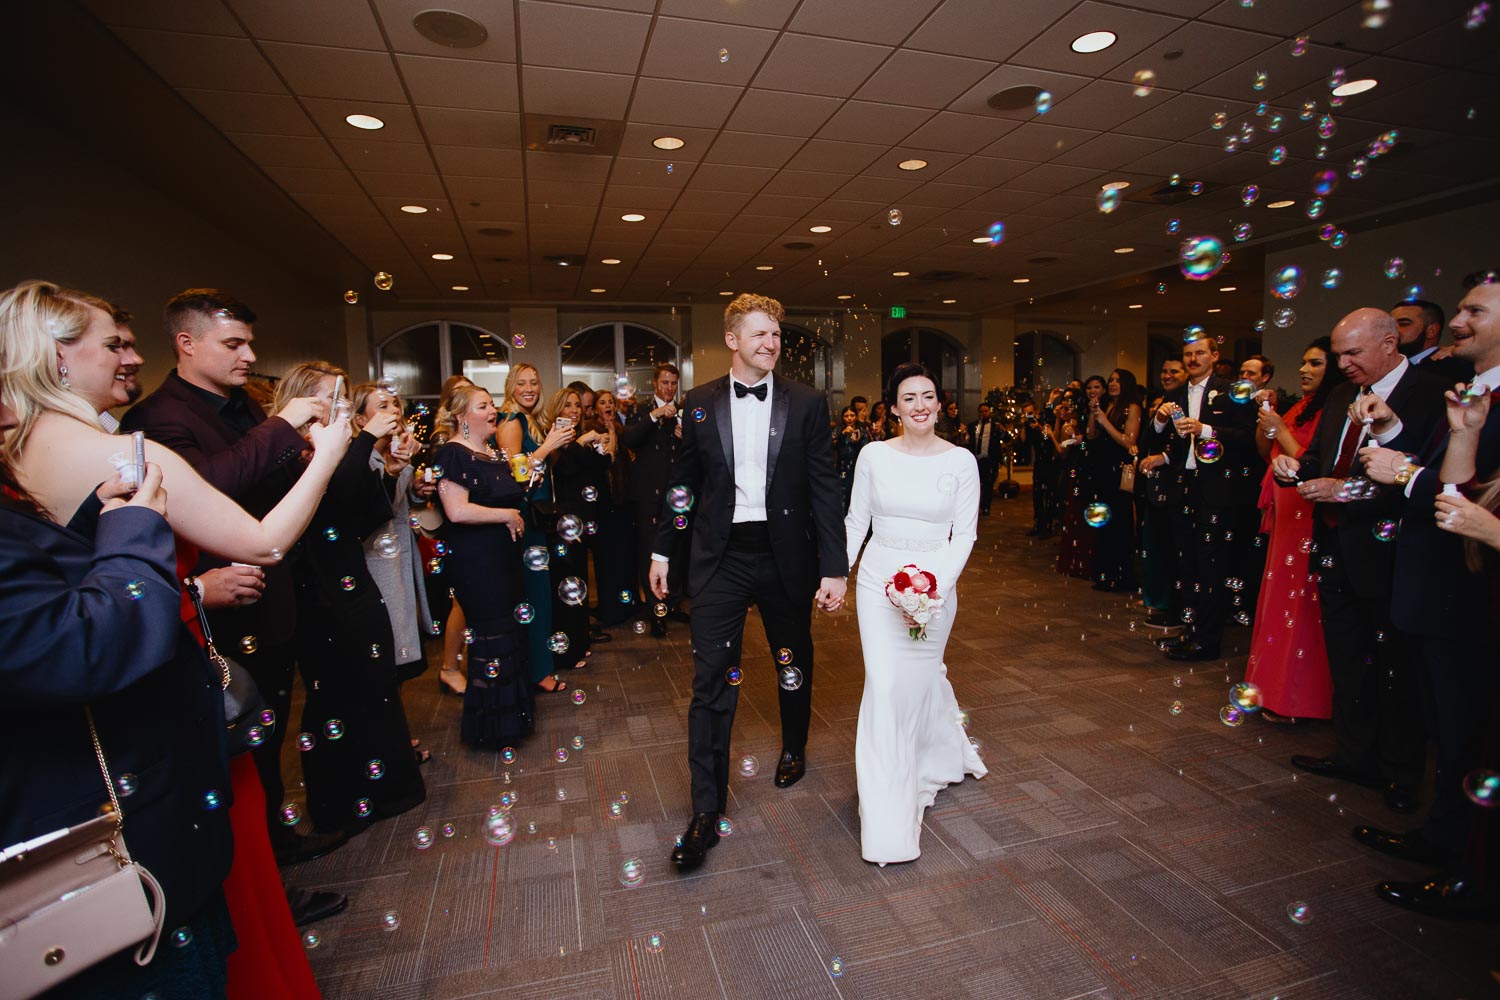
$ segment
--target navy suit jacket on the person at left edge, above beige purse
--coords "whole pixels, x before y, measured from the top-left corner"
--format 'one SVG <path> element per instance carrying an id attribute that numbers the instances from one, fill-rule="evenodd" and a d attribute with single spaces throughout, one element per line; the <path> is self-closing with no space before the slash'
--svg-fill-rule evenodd
<path id="1" fill-rule="evenodd" d="M 117 789 L 134 777 L 124 843 L 162 883 L 165 927 L 186 924 L 230 871 L 231 790 L 224 694 L 182 622 L 171 528 L 126 507 L 90 541 L 0 504 L 0 843 L 110 802 L 92 706 Z"/>

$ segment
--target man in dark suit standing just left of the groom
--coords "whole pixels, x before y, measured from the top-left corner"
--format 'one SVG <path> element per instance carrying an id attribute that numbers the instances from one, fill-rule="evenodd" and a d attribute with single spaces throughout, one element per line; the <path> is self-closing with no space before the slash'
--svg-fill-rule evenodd
<path id="1" fill-rule="evenodd" d="M 651 402 L 639 403 L 626 429 L 620 432 L 621 444 L 634 456 L 627 489 L 636 507 L 636 561 L 640 567 L 642 600 L 651 594 L 651 546 L 656 544 L 656 519 L 662 510 L 662 495 L 666 493 L 672 462 L 676 460 L 682 442 L 676 382 L 675 364 L 670 361 L 657 364 L 651 375 Z M 682 544 L 678 538 L 672 540 L 672 550 L 666 555 L 674 562 L 681 562 Z M 681 567 L 674 571 L 669 589 L 672 594 L 681 594 Z M 651 618 L 651 634 L 657 639 L 666 636 L 666 619 L 660 615 Z"/>

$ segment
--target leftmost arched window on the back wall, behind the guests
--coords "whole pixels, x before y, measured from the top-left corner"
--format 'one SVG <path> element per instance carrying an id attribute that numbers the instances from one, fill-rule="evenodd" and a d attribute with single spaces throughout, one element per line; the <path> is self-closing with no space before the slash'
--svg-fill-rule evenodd
<path id="1" fill-rule="evenodd" d="M 405 400 L 436 400 L 444 379 L 454 373 L 500 393 L 510 372 L 510 351 L 486 330 L 435 319 L 382 340 L 375 348 L 375 372 L 378 378 L 394 378 Z"/>

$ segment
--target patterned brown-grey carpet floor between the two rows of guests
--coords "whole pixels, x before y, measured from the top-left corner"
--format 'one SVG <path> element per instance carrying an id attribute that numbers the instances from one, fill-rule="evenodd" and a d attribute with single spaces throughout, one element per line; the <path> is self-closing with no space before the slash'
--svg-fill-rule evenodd
<path id="1" fill-rule="evenodd" d="M 1402 817 L 1287 763 L 1328 751 L 1326 724 L 1220 721 L 1248 630 L 1226 661 L 1168 664 L 1128 598 L 1058 576 L 1056 541 L 1028 525 L 1024 496 L 998 501 L 960 583 L 948 673 L 990 774 L 938 796 L 921 859 L 860 859 L 852 612 L 816 618 L 810 769 L 788 790 L 771 784 L 776 675 L 752 615 L 735 753 L 759 774 L 732 778 L 734 832 L 688 877 L 668 864 L 688 819 L 686 625 L 615 630 L 568 678 L 586 700 L 543 696 L 512 763 L 459 744 L 434 667 L 405 691 L 432 750 L 426 804 L 285 873 L 351 898 L 312 928 L 324 994 L 1496 996 L 1500 930 L 1376 898 L 1425 870 L 1348 831 Z M 504 793 L 516 835 L 494 846 Z"/>

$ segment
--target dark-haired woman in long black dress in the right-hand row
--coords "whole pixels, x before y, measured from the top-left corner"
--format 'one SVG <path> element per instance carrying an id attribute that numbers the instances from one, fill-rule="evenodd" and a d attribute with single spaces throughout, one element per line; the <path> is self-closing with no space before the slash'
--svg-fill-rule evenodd
<path id="1" fill-rule="evenodd" d="M 1094 540 L 1094 589 L 1136 588 L 1136 498 L 1120 489 L 1124 469 L 1134 472 L 1136 439 L 1140 435 L 1140 387 L 1128 369 L 1114 369 L 1104 396 L 1089 399 L 1089 465 L 1100 502 L 1108 504 L 1110 519 L 1096 528 Z"/>

